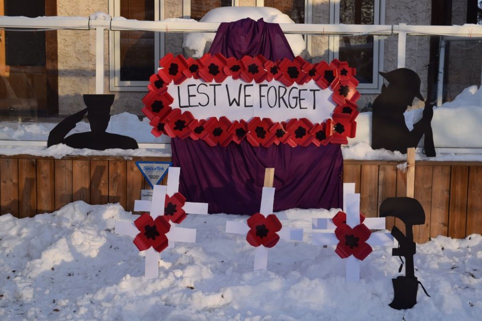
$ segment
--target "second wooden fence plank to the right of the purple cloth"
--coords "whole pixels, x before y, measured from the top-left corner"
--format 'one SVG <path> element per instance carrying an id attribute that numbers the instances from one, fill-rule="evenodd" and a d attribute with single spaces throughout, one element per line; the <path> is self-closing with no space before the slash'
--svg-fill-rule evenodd
<path id="1" fill-rule="evenodd" d="M 365 217 L 377 217 L 378 167 L 378 165 L 362 165 L 360 176 L 360 212 Z"/>

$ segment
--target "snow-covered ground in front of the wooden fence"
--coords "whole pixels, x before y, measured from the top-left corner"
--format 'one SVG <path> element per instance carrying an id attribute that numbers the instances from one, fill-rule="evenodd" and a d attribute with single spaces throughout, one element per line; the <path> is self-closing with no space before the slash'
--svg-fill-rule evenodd
<path id="1" fill-rule="evenodd" d="M 418 303 L 388 306 L 400 260 L 374 248 L 361 263 L 361 282 L 346 283 L 334 247 L 311 244 L 311 218 L 336 210 L 278 213 L 304 240 L 281 240 L 268 269 L 253 271 L 254 251 L 241 235 L 224 233 L 225 214 L 189 215 L 196 243 L 161 253 L 158 279 L 144 278 L 144 258 L 118 221 L 136 216 L 118 204 L 74 202 L 59 211 L 17 219 L 0 216 L 2 320 L 478 320 L 482 315 L 482 237 L 437 237 L 417 246 Z"/>

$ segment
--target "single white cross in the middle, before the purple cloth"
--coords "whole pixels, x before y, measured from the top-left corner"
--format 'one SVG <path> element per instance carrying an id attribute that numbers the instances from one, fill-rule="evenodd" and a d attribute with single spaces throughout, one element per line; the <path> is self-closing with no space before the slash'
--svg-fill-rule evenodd
<path id="1" fill-rule="evenodd" d="M 265 217 L 273 213 L 273 203 L 275 197 L 275 188 L 273 187 L 263 187 L 263 192 L 261 194 L 261 205 L 260 213 Z M 250 227 L 246 222 L 226 222 L 226 233 L 236 233 L 246 235 L 250 231 Z M 302 241 L 303 240 L 303 229 L 289 228 L 283 226 L 277 234 L 280 239 Z M 255 270 L 266 270 L 268 265 L 268 248 L 260 245 L 255 248 Z"/>

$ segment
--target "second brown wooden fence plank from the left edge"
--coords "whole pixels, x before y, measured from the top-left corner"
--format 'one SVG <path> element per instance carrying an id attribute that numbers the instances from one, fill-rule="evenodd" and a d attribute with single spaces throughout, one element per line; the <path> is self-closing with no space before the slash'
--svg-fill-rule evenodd
<path id="1" fill-rule="evenodd" d="M 19 159 L 19 218 L 37 214 L 37 161 Z"/>

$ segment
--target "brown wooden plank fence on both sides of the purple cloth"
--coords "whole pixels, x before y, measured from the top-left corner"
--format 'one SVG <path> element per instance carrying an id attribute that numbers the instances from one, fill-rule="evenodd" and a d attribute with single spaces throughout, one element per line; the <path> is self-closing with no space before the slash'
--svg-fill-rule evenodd
<path id="1" fill-rule="evenodd" d="M 0 155 L 0 214 L 32 217 L 78 200 L 89 204 L 118 202 L 132 211 L 140 191 L 150 188 L 136 166 L 136 161 L 141 160 L 170 158 Z M 397 165 L 344 161 L 343 182 L 355 183 L 365 216 L 378 216 L 385 198 L 405 196 L 405 173 Z M 463 238 L 482 233 L 482 162 L 416 162 L 415 198 L 426 216 L 425 225 L 414 227 L 417 242 L 437 235 Z M 389 219 L 387 228 L 394 222 L 403 230 L 394 219 Z"/>

